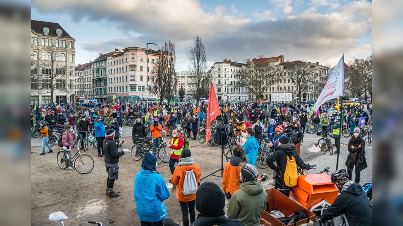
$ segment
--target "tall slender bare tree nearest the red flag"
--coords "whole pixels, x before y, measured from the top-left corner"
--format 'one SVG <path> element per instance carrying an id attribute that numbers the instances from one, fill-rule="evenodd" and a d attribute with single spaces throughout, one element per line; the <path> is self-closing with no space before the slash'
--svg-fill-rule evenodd
<path id="1" fill-rule="evenodd" d="M 207 56 L 205 45 L 200 37 L 194 40 L 194 46 L 190 48 L 189 75 L 187 77 L 190 93 L 196 99 L 208 97 L 210 91 L 211 74 L 207 73 Z"/>

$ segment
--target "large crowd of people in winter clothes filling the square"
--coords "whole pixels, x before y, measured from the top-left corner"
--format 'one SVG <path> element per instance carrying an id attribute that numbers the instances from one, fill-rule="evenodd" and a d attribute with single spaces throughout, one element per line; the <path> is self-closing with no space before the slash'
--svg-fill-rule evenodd
<path id="1" fill-rule="evenodd" d="M 85 104 L 84 104 L 85 106 Z M 191 155 L 188 148 L 184 148 L 185 138 L 176 128 L 176 124 L 185 125 L 187 137 L 196 139 L 199 126 L 205 126 L 207 102 L 198 105 L 192 103 L 158 104 L 145 103 L 97 103 L 87 105 L 79 110 L 77 104 L 52 104 L 32 106 L 31 125 L 36 125 L 42 137 L 42 153 L 45 154 L 49 127 L 57 124 L 67 125 L 62 135 L 62 144 L 65 150 L 71 150 L 76 133 L 80 136 L 81 147 L 87 132 L 94 130 L 97 140 L 99 157 L 104 157 L 107 171 L 106 195 L 116 197 L 113 189 L 114 181 L 118 179 L 119 157 L 127 151 L 118 149 L 122 146 L 121 136 L 122 118 L 127 116 L 134 120 L 132 127 L 132 141 L 139 138 L 154 137 L 154 145 L 161 145 L 161 137 L 170 137 L 166 147 L 171 149 L 169 182 L 176 185 L 176 199 L 179 201 L 182 212 L 183 225 L 259 225 L 260 215 L 265 208 L 267 193 L 259 181 L 256 164 L 259 149 L 258 140 L 270 139 L 268 148 L 276 152 L 267 157 L 267 165 L 276 172 L 275 188 L 290 189 L 284 185 L 282 176 L 286 170 L 286 162 L 292 156 L 302 169 L 311 166 L 301 159 L 301 143 L 304 138 L 305 126 L 320 125 L 326 131 L 333 130 L 333 137 L 340 153 L 340 130 L 342 123 L 346 123 L 352 135 L 348 144 L 347 171 L 342 176 L 332 175 L 332 182 L 341 192 L 339 199 L 347 197 L 359 200 L 361 205 L 367 205 L 364 200 L 365 192 L 359 185 L 360 171 L 366 168 L 365 142 L 361 138 L 358 119 L 366 117 L 366 123 L 372 119 L 372 107 L 345 105 L 338 109 L 334 103 L 322 105 L 317 111 L 312 105 L 295 106 L 292 103 L 265 103 L 265 102 L 221 102 L 221 115 L 218 117 L 229 134 L 237 139 L 233 156 L 225 165 L 220 188 L 212 182 L 199 184 L 201 169 Z M 110 125 L 105 125 L 105 119 L 110 119 Z M 164 131 L 165 128 L 165 131 Z M 77 132 L 76 132 L 77 131 Z M 275 162 L 277 165 L 275 165 Z M 175 163 L 177 167 L 175 167 Z M 355 167 L 355 182 L 352 182 L 352 171 Z M 71 166 L 68 169 L 72 169 Z M 191 172 L 191 173 L 190 173 Z M 340 171 L 337 171 L 340 174 Z M 336 172 L 334 172 L 336 173 Z M 333 174 L 334 174 L 333 173 Z M 191 174 L 191 176 L 188 176 Z M 190 179 L 189 179 L 190 178 Z M 194 193 L 187 193 L 189 181 L 197 183 Z M 360 190 L 361 189 L 361 190 Z M 134 196 L 141 225 L 163 225 L 167 216 L 164 200 L 170 196 L 165 179 L 157 171 L 157 159 L 146 153 L 143 156 L 142 169 L 136 175 Z M 288 191 L 288 192 L 287 192 Z M 347 194 L 348 193 L 348 194 Z M 344 194 L 344 195 L 342 195 Z M 227 217 L 224 212 L 225 198 L 229 200 Z M 337 199 L 337 203 L 341 203 Z M 356 205 L 356 204 L 352 204 Z M 357 204 L 358 205 L 358 204 Z M 371 204 L 370 204 L 371 205 Z M 354 209 L 351 205 L 338 204 L 337 211 L 333 208 L 326 210 L 321 220 L 345 213 L 349 225 L 371 225 L 367 219 L 369 208 L 372 223 L 371 207 Z M 200 213 L 197 217 L 195 209 Z M 361 213 L 360 211 L 363 211 Z M 349 213 L 347 213 L 349 212 Z M 365 219 L 357 219 L 354 214 L 360 213 Z M 350 215 L 351 214 L 351 215 Z M 190 216 L 190 220 L 189 220 Z M 358 224 L 360 222 L 361 224 Z"/>

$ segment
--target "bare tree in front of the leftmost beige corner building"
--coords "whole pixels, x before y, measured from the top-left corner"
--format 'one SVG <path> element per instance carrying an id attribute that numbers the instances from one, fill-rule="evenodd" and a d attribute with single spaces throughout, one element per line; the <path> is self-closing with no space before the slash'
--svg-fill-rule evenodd
<path id="1" fill-rule="evenodd" d="M 31 92 L 38 94 L 50 93 L 53 103 L 53 93 L 56 90 L 67 93 L 69 89 L 69 71 L 66 68 L 66 55 L 55 49 L 31 51 Z M 71 74 L 72 75 L 72 74 Z"/>

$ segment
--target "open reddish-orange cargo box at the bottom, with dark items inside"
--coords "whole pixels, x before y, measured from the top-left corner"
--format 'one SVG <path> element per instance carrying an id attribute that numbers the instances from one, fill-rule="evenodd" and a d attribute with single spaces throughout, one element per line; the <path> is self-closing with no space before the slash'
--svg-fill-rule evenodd
<path id="1" fill-rule="evenodd" d="M 285 216 L 289 216 L 294 214 L 295 211 L 298 209 L 304 209 L 305 215 L 307 216 L 306 219 L 302 219 L 296 222 L 296 225 L 301 225 L 303 223 L 308 223 L 310 220 L 315 222 L 316 215 L 306 209 L 304 206 L 298 204 L 297 202 L 293 201 L 291 198 L 285 196 L 283 193 L 278 191 L 277 189 L 270 188 L 267 189 L 267 205 L 261 214 L 260 224 L 267 225 L 267 226 L 287 226 L 286 224 L 282 223 L 276 217 L 272 216 L 270 213 L 267 213 L 267 207 L 269 210 L 278 209 L 280 210 Z M 290 224 L 290 225 L 294 225 Z"/>

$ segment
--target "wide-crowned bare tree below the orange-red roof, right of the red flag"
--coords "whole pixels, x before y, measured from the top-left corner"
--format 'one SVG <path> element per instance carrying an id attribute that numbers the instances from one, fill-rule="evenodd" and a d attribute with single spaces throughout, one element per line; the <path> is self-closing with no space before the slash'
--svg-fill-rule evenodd
<path id="1" fill-rule="evenodd" d="M 260 98 L 265 89 L 279 81 L 280 74 L 276 66 L 270 66 L 268 63 L 260 64 L 249 59 L 246 63 L 247 68 L 239 70 L 235 75 L 237 78 L 235 87 L 246 87 L 255 94 L 256 99 Z"/>

